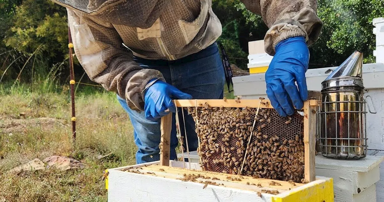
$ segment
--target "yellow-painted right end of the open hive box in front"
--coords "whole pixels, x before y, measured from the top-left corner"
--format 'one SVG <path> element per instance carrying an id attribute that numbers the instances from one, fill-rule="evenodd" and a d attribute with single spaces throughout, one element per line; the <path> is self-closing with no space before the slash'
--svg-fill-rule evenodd
<path id="1" fill-rule="evenodd" d="M 318 180 L 272 197 L 272 202 L 334 202 L 333 179 Z"/>

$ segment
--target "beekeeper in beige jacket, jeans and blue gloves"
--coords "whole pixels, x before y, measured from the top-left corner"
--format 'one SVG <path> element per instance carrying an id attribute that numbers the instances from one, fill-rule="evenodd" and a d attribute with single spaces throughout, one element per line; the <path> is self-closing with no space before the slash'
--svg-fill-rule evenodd
<path id="1" fill-rule="evenodd" d="M 129 114 L 138 164 L 159 160 L 159 118 L 175 112 L 172 99 L 223 97 L 215 43 L 222 26 L 211 0 L 53 1 L 67 8 L 74 51 L 89 78 L 116 92 Z M 267 94 L 281 116 L 291 115 L 307 99 L 307 45 L 322 28 L 316 0 L 242 2 L 269 27 L 265 51 L 274 57 L 265 74 Z M 194 121 L 185 119 L 189 150 L 195 150 Z M 173 117 L 170 159 L 177 144 Z"/>

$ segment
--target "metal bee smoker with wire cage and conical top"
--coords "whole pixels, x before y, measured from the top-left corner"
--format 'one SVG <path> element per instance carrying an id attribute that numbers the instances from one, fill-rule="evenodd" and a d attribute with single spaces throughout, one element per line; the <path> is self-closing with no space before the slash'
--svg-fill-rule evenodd
<path id="1" fill-rule="evenodd" d="M 372 114 L 376 108 L 372 97 L 363 93 L 362 55 L 355 51 L 321 83 L 319 146 L 325 157 L 361 159 L 367 155 L 366 107 Z M 374 112 L 369 109 L 368 97 Z"/>

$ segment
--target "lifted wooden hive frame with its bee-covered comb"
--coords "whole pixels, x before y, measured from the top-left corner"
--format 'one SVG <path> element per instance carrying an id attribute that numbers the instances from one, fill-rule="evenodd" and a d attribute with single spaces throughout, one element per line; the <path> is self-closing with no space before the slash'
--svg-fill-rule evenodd
<path id="1" fill-rule="evenodd" d="M 175 104 L 194 117 L 202 170 L 293 182 L 315 180 L 317 100 L 305 102 L 304 115 L 295 112 L 290 117 L 280 117 L 265 99 L 175 100 Z M 163 137 L 161 157 L 166 161 Z"/>

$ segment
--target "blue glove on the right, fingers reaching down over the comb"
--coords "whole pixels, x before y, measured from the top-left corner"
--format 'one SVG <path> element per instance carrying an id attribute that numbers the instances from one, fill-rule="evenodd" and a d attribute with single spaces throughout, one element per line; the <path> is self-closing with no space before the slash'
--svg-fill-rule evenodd
<path id="1" fill-rule="evenodd" d="M 273 108 L 285 117 L 294 113 L 293 106 L 303 108 L 308 97 L 305 72 L 310 52 L 304 37 L 287 38 L 278 43 L 275 50 L 265 73 L 266 93 Z"/>

